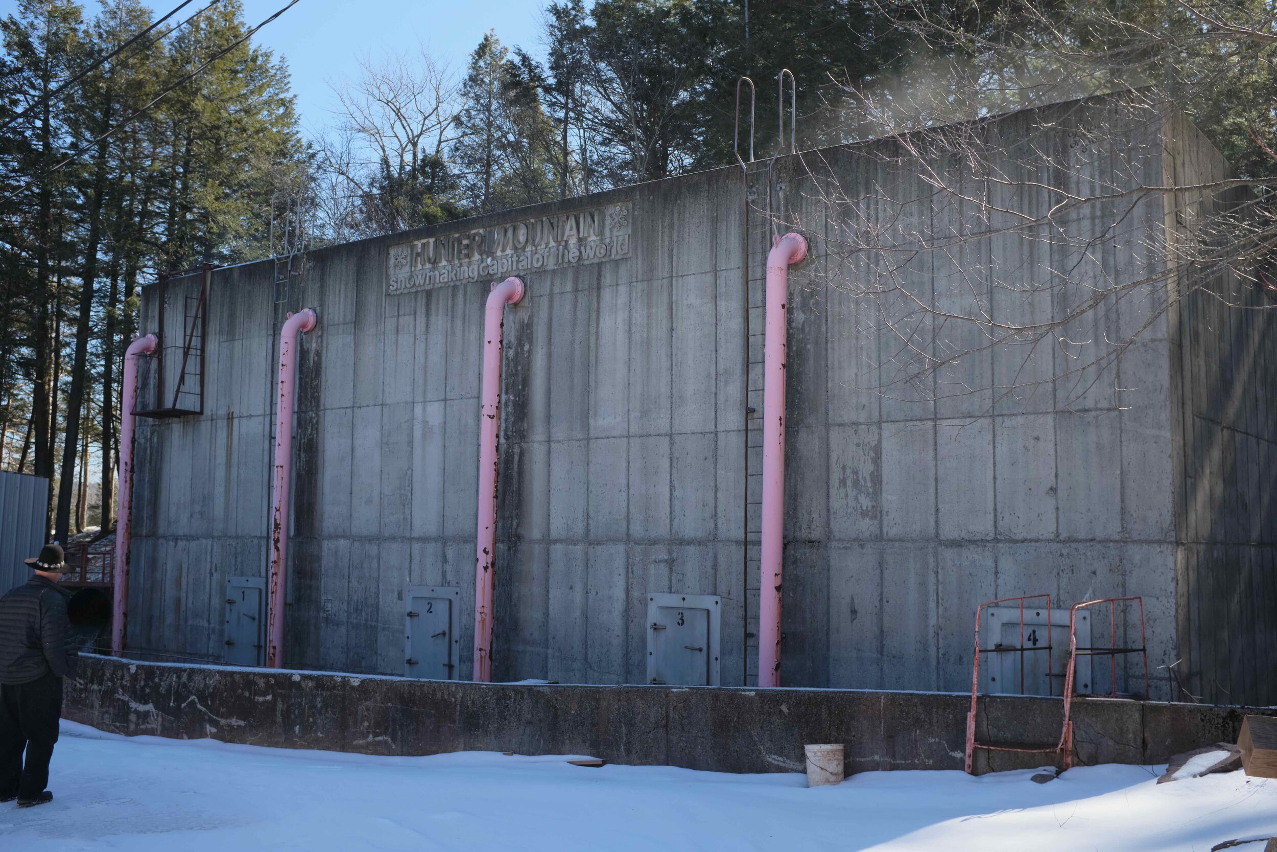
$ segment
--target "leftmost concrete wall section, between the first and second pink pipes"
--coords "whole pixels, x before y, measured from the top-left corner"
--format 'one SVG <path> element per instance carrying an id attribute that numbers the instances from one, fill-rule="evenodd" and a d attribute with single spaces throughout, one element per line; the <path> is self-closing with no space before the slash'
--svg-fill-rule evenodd
<path id="1" fill-rule="evenodd" d="M 185 301 L 199 286 L 199 275 L 170 282 L 162 330 L 158 287 L 143 289 L 139 323 L 163 333 L 167 392 L 156 399 L 157 367 L 144 361 L 139 409 L 172 404 Z M 276 313 L 271 264 L 218 270 L 212 294 L 204 415 L 138 419 L 129 646 L 139 653 L 220 659 L 226 577 L 266 574 Z M 304 347 L 303 358 L 315 351 Z"/>

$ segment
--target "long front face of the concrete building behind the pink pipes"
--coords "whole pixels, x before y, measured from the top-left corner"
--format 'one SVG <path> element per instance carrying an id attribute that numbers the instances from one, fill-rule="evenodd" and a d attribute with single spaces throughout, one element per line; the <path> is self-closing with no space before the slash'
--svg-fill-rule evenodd
<path id="1" fill-rule="evenodd" d="M 1073 128 L 1102 109 L 1011 115 L 983 125 L 982 144 L 1005 151 L 1006 170 L 1037 169 L 1068 190 L 1154 183 L 1160 124 L 1105 149 L 1070 147 Z M 401 673 L 405 586 L 456 586 L 457 676 L 469 678 L 488 281 L 391 294 L 388 253 L 624 207 L 628 257 L 527 271 L 526 298 L 507 309 L 494 677 L 641 682 L 645 595 L 678 591 L 722 597 L 722 683 L 753 682 L 773 220 L 812 244 L 790 276 L 783 682 L 965 688 L 976 605 L 1031 593 L 1057 605 L 1142 594 L 1151 663 L 1174 662 L 1165 305 L 1115 299 L 1066 330 L 1080 341 L 1071 349 L 1054 337 L 981 347 L 971 328 L 937 319 L 973 290 L 1002 322 L 1068 317 L 1087 276 L 1151 263 L 1138 247 L 1161 208 L 1008 236 L 976 221 L 960 193 L 937 199 L 899 144 L 784 157 L 770 192 L 761 162 L 317 250 L 278 305 L 272 263 L 216 271 L 204 414 L 138 433 L 130 649 L 222 657 L 226 577 L 267 568 L 275 337 L 285 307 L 310 307 L 287 662 Z M 923 162 L 963 180 L 956 155 Z M 1038 215 L 1052 195 L 1014 204 Z M 1130 250 L 1079 248 L 1115 230 Z M 881 250 L 852 250 L 866 234 Z M 914 250 L 942 234 L 965 239 Z M 909 259 L 888 262 L 902 247 Z M 1066 286 L 1061 267 L 1074 271 Z M 866 282 L 889 280 L 896 295 L 866 295 Z M 197 286 L 198 276 L 170 284 L 166 342 Z M 144 331 L 156 296 L 144 289 Z M 1105 341 L 1142 323 L 1140 342 L 1106 360 Z M 912 342 L 908 328 L 921 330 Z"/>

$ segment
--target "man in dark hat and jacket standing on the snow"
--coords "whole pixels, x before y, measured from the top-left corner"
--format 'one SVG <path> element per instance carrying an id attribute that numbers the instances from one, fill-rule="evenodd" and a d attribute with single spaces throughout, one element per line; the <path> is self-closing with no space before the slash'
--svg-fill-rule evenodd
<path id="1" fill-rule="evenodd" d="M 0 802 L 18 807 L 51 802 L 49 760 L 63 714 L 63 678 L 73 673 L 68 649 L 70 593 L 57 585 L 63 548 L 46 544 L 26 559 L 36 576 L 0 598 Z M 26 764 L 22 752 L 26 750 Z"/>

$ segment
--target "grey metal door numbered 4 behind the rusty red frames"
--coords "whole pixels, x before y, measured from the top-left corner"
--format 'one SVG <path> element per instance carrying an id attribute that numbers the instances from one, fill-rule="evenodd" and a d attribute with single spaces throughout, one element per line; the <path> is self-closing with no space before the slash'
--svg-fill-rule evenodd
<path id="1" fill-rule="evenodd" d="M 1020 648 L 1020 608 L 990 607 L 985 611 L 981 636 L 986 648 Z M 1069 662 L 1069 611 L 1025 607 L 1023 620 L 1023 648 L 988 654 L 988 664 L 981 666 L 981 690 L 1014 695 L 1061 695 Z M 1078 613 L 1078 646 L 1091 645 L 1091 616 Z M 1075 692 L 1091 692 L 1091 658 L 1078 657 Z"/>

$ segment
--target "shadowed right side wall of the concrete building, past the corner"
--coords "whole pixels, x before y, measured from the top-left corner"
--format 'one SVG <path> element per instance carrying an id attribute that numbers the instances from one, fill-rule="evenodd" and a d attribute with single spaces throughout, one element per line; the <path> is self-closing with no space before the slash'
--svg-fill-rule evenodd
<path id="1" fill-rule="evenodd" d="M 1170 119 L 1165 185 L 1232 176 L 1183 116 Z M 1244 192 L 1176 193 L 1166 216 L 1191 227 Z M 1176 590 L 1180 678 L 1212 701 L 1277 701 L 1277 317 L 1271 293 L 1231 267 L 1185 272 L 1172 305 Z"/>

